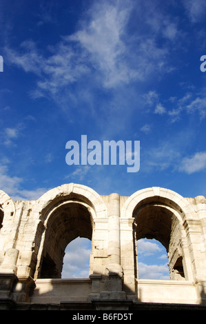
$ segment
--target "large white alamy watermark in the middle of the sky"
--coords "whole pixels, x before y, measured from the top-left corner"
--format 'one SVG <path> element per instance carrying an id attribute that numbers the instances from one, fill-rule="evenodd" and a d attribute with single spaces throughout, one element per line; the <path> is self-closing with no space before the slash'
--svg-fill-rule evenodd
<path id="1" fill-rule="evenodd" d="M 134 145 L 134 150 L 132 146 Z M 103 141 L 93 140 L 87 143 L 87 135 L 81 135 L 81 145 L 77 141 L 68 141 L 65 156 L 68 165 L 125 165 L 127 172 L 138 172 L 140 168 L 140 141 Z"/>

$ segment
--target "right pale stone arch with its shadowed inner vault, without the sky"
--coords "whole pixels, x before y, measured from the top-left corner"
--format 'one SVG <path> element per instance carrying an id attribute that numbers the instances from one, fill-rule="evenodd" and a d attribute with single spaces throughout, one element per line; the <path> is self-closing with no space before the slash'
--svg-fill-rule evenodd
<path id="1" fill-rule="evenodd" d="M 122 210 L 122 217 L 134 219 L 134 240 L 156 239 L 165 246 L 170 276 L 174 280 L 193 279 L 184 227 L 189 216 L 194 219 L 196 215 L 183 196 L 156 187 L 132 194 Z"/>

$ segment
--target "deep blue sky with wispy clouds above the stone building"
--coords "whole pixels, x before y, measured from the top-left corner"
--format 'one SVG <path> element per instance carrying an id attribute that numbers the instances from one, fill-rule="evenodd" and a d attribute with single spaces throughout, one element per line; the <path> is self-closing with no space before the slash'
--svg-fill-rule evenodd
<path id="1" fill-rule="evenodd" d="M 1 190 L 206 196 L 205 19 L 204 0 L 1 0 Z M 140 170 L 67 165 L 65 144 L 82 134 L 140 141 Z"/>

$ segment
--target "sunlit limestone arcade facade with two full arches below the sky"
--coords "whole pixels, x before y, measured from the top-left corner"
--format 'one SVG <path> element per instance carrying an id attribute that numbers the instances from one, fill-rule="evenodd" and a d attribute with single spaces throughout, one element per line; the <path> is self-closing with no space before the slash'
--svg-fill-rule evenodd
<path id="1" fill-rule="evenodd" d="M 78 236 L 92 241 L 89 278 L 61 279 L 65 247 Z M 136 241 L 145 237 L 165 246 L 170 281 L 138 278 Z M 69 183 L 36 201 L 12 201 L 0 190 L 0 308 L 127 310 L 206 305 L 205 296 L 204 196 L 159 187 L 101 196 Z"/>

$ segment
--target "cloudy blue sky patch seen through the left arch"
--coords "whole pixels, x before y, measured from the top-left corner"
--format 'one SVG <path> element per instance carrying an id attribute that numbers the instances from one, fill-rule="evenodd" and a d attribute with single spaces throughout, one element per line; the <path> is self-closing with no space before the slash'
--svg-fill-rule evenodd
<path id="1" fill-rule="evenodd" d="M 61 278 L 88 278 L 91 252 L 92 242 L 89 239 L 77 237 L 70 242 L 65 248 Z"/>

